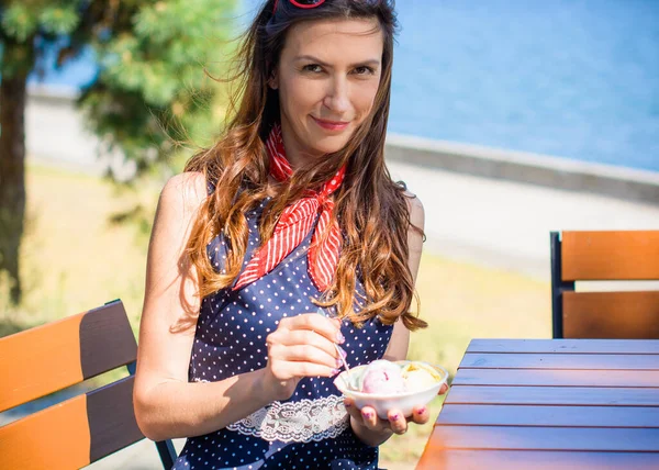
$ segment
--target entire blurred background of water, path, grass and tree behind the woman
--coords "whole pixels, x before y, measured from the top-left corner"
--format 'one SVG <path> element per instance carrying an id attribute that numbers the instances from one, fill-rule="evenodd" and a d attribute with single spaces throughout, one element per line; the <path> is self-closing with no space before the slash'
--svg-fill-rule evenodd
<path id="1" fill-rule="evenodd" d="M 3 2 L 0 336 L 118 298 L 137 331 L 159 190 L 222 128 L 212 77 L 258 3 Z M 658 228 L 659 2 L 396 3 L 387 157 L 427 235 L 410 356 L 453 373 L 471 338 L 551 336 L 549 231 Z M 94 466 L 158 468 L 133 447 Z"/>

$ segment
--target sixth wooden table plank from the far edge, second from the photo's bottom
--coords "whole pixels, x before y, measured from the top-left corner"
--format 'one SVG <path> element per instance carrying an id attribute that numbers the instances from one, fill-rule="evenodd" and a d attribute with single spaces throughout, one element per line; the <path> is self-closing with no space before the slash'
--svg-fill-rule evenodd
<path id="1" fill-rule="evenodd" d="M 659 428 L 435 426 L 440 449 L 659 452 Z"/>

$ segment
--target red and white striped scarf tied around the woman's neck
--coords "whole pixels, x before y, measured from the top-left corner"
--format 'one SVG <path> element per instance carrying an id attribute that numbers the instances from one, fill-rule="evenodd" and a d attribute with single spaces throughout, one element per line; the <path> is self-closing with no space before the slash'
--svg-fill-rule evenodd
<path id="1" fill-rule="evenodd" d="M 272 127 L 266 148 L 270 158 L 270 174 L 278 181 L 286 181 L 293 175 L 293 169 L 286 158 L 281 126 Z M 334 201 L 330 195 L 343 182 L 345 166 L 323 184 L 320 191 L 309 191 L 308 195 L 283 210 L 275 233 L 268 243 L 259 247 L 243 273 L 238 277 L 234 290 L 241 289 L 270 272 L 293 249 L 295 249 L 312 230 L 315 216 L 319 222 L 311 239 L 308 253 L 309 277 L 321 292 L 327 290 L 336 273 L 336 265 L 340 254 L 340 230 L 336 220 L 332 220 Z"/>

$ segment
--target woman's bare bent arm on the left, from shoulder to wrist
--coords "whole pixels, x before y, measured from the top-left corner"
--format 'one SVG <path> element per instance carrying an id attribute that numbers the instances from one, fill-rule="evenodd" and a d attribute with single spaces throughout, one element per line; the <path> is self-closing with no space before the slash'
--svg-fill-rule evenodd
<path id="1" fill-rule="evenodd" d="M 154 440 L 210 433 L 270 401 L 264 396 L 258 372 L 188 383 L 200 301 L 197 271 L 185 261 L 183 250 L 205 197 L 203 175 L 182 174 L 167 182 L 158 201 L 134 389 L 137 424 Z"/>

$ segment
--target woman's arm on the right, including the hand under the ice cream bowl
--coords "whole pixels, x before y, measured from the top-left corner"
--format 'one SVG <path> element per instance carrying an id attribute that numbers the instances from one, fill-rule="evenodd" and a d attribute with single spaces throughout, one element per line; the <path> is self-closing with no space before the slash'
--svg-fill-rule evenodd
<path id="1" fill-rule="evenodd" d="M 423 231 L 425 215 L 423 204 L 418 198 L 407 194 L 410 208 L 410 222 L 413 226 Z M 407 232 L 407 244 L 410 248 L 410 257 L 407 266 L 412 273 L 412 279 L 416 283 L 416 275 L 418 273 L 418 265 L 421 264 L 421 253 L 423 248 L 423 235 L 410 227 Z M 407 347 L 410 345 L 410 331 L 403 322 L 395 322 L 391 333 L 391 339 L 384 351 L 384 359 L 403 360 L 407 357 Z M 378 418 L 376 411 L 370 406 L 364 407 L 361 411 L 355 410 L 354 403 L 346 400 L 346 406 L 350 414 L 350 425 L 353 430 L 361 441 L 369 446 L 379 446 L 391 437 L 393 433 L 403 434 L 407 430 L 407 421 L 399 411 L 392 410 L 389 413 L 389 421 Z M 425 423 L 428 419 L 427 410 L 415 410 L 412 418 L 418 423 Z"/>

